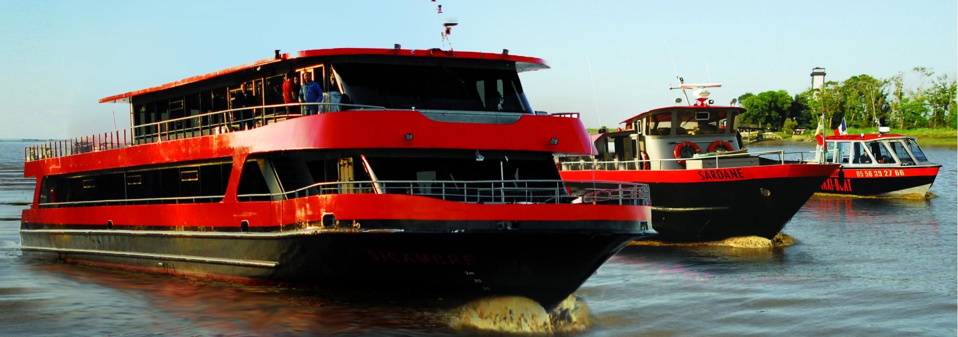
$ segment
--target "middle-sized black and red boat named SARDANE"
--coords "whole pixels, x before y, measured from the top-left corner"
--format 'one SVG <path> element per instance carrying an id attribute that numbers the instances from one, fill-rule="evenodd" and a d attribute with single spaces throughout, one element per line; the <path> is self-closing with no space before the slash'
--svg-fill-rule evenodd
<path id="1" fill-rule="evenodd" d="M 695 104 L 600 130 L 598 155 L 557 156 L 562 178 L 649 184 L 652 224 L 666 239 L 774 237 L 838 166 L 786 161 L 784 151 L 747 152 L 738 131 L 745 109 L 711 105 L 704 88 L 717 86 L 683 84 L 697 88 Z"/>

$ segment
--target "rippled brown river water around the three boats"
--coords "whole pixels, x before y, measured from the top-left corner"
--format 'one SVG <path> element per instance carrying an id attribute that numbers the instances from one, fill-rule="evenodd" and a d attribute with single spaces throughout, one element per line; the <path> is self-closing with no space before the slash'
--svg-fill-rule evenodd
<path id="1" fill-rule="evenodd" d="M 456 327 L 464 299 L 247 286 L 22 258 L 20 211 L 34 191 L 23 178 L 27 145 L 0 142 L 0 336 L 477 333 Z M 788 247 L 627 246 L 576 292 L 587 306 L 584 330 L 554 332 L 954 336 L 956 150 L 925 154 L 944 165 L 931 188 L 937 197 L 813 197 L 787 224 L 797 240 Z"/>

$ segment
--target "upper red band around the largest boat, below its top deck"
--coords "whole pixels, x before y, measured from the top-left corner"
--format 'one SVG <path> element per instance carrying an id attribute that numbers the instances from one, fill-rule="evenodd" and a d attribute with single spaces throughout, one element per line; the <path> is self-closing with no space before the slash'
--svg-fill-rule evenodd
<path id="1" fill-rule="evenodd" d="M 405 135 L 413 134 L 407 141 Z M 490 137 L 508 134 L 509 137 Z M 557 138 L 559 144 L 551 144 Z M 27 162 L 24 176 L 117 169 L 307 148 L 464 148 L 591 154 L 579 119 L 523 115 L 513 124 L 432 121 L 417 111 L 343 111 L 248 131 Z"/>

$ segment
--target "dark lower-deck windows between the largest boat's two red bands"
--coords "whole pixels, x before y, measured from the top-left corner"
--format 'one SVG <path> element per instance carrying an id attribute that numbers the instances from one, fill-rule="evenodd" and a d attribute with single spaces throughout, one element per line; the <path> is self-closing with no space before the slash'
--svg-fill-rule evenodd
<path id="1" fill-rule="evenodd" d="M 484 153 L 483 161 L 477 161 L 475 153 L 468 150 L 430 151 L 428 155 L 418 150 L 363 152 L 370 167 L 376 170 L 378 180 L 422 181 L 417 185 L 422 189 L 431 186 L 430 181 L 437 180 L 559 179 L 549 153 L 489 151 Z M 219 202 L 226 194 L 232 169 L 232 163 L 220 161 L 47 176 L 41 184 L 39 204 L 40 207 L 82 207 Z M 252 156 L 244 163 L 237 196 L 243 202 L 282 200 L 319 193 L 372 192 L 370 183 L 324 184 L 308 188 L 317 183 L 370 180 L 360 154 L 355 150 L 275 152 Z M 402 184 L 394 185 L 404 188 L 387 192 L 413 192 L 407 191 L 408 186 Z"/>

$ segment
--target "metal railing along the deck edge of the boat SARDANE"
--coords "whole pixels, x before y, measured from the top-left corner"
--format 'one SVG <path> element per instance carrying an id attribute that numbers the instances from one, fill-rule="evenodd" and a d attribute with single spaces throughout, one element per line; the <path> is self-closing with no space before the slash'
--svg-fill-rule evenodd
<path id="1" fill-rule="evenodd" d="M 761 151 L 761 152 L 741 152 L 733 154 L 717 154 L 712 156 L 703 156 L 695 158 L 668 158 L 668 159 L 649 159 L 649 160 L 628 160 L 628 161 L 574 161 L 574 162 L 559 162 L 562 170 L 585 170 L 585 169 L 603 169 L 603 170 L 620 170 L 620 169 L 639 169 L 645 166 L 645 163 L 656 163 L 656 162 L 675 162 L 683 160 L 702 160 L 702 161 L 715 161 L 716 168 L 719 168 L 719 161 L 722 159 L 731 159 L 731 158 L 743 158 L 749 156 L 763 157 L 768 155 L 775 155 L 778 158 L 773 159 L 778 162 L 777 164 L 786 164 L 786 163 L 821 163 L 816 155 L 821 154 L 822 151 L 799 151 L 799 152 L 786 152 L 785 150 L 773 150 L 773 151 Z M 809 157 L 811 160 L 807 160 Z M 764 157 L 763 157 L 764 158 Z"/>

